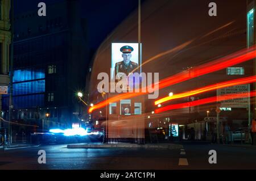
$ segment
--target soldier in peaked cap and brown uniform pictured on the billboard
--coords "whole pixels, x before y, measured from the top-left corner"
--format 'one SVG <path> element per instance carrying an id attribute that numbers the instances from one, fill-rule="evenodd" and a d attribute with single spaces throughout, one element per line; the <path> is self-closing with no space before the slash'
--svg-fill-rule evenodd
<path id="1" fill-rule="evenodd" d="M 117 62 L 115 64 L 114 75 L 117 75 L 119 78 L 122 78 L 124 77 L 124 75 L 128 76 L 129 73 L 131 72 L 138 73 L 138 64 L 131 61 L 131 52 L 133 52 L 133 47 L 126 45 L 121 47 L 120 51 L 122 52 L 123 61 Z"/>

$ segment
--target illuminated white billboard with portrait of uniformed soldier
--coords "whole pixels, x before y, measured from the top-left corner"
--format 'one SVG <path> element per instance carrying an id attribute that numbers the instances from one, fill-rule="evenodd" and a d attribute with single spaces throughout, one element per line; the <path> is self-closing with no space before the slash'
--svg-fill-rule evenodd
<path id="1" fill-rule="evenodd" d="M 115 79 L 114 74 L 118 77 L 129 73 L 141 73 L 139 62 L 139 44 L 138 43 L 112 43 L 112 61 L 111 61 L 111 78 Z"/>

